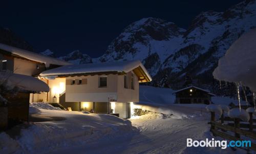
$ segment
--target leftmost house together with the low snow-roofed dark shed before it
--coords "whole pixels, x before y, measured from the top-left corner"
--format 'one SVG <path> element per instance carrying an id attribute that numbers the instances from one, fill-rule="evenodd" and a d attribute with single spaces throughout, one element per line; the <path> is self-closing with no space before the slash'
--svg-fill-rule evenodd
<path id="1" fill-rule="evenodd" d="M 32 76 L 37 76 L 47 69 L 69 64 L 65 61 L 0 43 L 0 79 L 5 80 L 7 78 L 8 82 L 15 83 L 21 90 L 17 95 L 4 94 L 4 97 L 9 101 L 7 104 L 9 126 L 17 121 L 27 121 L 29 102 L 33 101 L 34 97 L 39 96 L 38 93 L 47 95 L 49 92 L 47 81 L 44 83 Z M 6 84 L 5 82 L 4 84 Z"/>

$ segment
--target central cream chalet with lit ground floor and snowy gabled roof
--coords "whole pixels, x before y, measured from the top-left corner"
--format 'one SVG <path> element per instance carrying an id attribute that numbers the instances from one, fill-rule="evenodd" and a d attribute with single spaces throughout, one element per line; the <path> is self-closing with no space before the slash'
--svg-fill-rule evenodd
<path id="1" fill-rule="evenodd" d="M 48 80 L 51 102 L 75 111 L 115 113 L 131 117 L 139 101 L 139 83 L 152 81 L 140 61 L 67 65 L 41 72 Z"/>

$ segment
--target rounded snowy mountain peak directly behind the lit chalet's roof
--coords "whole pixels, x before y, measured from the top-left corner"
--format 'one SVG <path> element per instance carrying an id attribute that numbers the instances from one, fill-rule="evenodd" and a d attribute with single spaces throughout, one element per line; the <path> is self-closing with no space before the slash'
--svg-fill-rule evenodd
<path id="1" fill-rule="evenodd" d="M 125 28 L 99 61 L 140 60 L 155 75 L 165 58 L 182 42 L 184 32 L 173 22 L 143 18 Z"/>

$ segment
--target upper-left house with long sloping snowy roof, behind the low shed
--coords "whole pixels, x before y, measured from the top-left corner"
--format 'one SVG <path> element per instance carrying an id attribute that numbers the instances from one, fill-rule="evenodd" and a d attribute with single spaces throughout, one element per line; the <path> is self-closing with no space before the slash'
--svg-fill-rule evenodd
<path id="1" fill-rule="evenodd" d="M 0 43 L 0 70 L 2 71 L 10 70 L 16 74 L 38 76 L 42 71 L 63 65 L 70 65 L 70 63 Z M 44 82 L 47 83 L 47 80 Z M 38 96 L 40 95 L 31 93 L 30 102 L 48 101 L 47 97 L 38 98 Z"/>

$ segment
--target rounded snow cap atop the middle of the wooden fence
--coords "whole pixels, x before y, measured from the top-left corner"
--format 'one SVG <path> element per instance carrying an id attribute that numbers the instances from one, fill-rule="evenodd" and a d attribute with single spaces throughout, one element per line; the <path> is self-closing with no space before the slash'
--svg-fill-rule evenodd
<path id="1" fill-rule="evenodd" d="M 249 121 L 249 113 L 244 109 L 234 108 L 228 112 L 230 118 L 239 118 L 243 121 Z"/>

